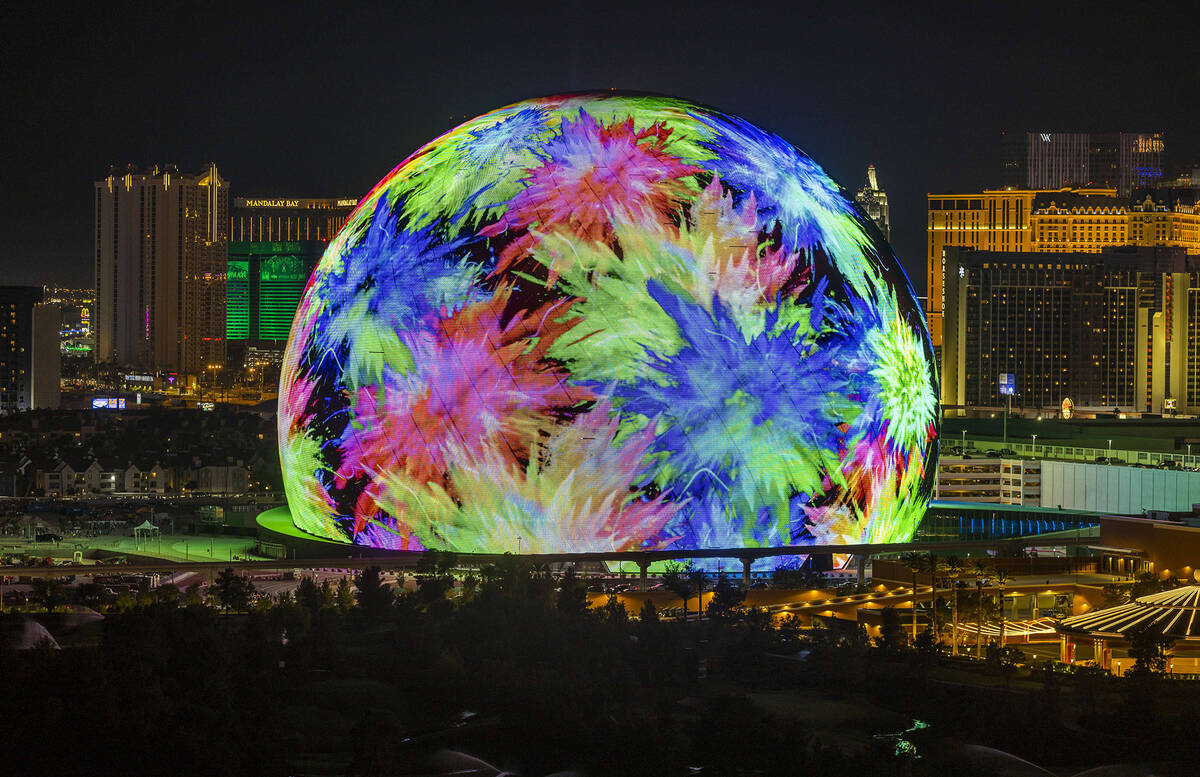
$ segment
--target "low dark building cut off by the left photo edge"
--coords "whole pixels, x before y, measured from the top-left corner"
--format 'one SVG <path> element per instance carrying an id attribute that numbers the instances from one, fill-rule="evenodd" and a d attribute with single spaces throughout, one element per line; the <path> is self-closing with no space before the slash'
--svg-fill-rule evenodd
<path id="1" fill-rule="evenodd" d="M 41 287 L 0 287 L 0 415 L 59 406 L 59 308 Z"/>

